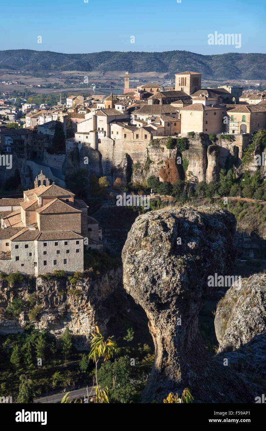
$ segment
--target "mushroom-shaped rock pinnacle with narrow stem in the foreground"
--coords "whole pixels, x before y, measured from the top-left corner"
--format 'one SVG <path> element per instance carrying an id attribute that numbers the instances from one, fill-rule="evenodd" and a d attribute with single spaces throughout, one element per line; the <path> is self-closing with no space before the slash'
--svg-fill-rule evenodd
<path id="1" fill-rule="evenodd" d="M 198 330 L 199 310 L 218 289 L 208 276 L 233 275 L 235 227 L 234 215 L 207 207 L 152 211 L 132 225 L 123 282 L 147 313 L 155 345 L 142 401 L 189 387 L 196 402 L 254 402 L 241 379 L 209 357 Z"/>

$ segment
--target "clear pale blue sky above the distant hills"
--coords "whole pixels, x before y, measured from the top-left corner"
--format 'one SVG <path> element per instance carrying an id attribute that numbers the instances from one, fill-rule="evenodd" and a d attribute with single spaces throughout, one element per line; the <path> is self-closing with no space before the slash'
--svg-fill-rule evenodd
<path id="1" fill-rule="evenodd" d="M 0 14 L 0 50 L 266 53 L 266 0 L 13 0 Z"/>

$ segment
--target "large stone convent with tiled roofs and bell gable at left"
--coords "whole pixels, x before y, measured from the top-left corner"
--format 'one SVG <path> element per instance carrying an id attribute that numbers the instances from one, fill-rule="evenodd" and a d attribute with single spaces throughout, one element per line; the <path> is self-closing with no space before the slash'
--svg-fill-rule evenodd
<path id="1" fill-rule="evenodd" d="M 83 245 L 103 250 L 97 220 L 88 217 L 88 206 L 71 191 L 49 185 L 42 172 L 34 189 L 24 191 L 23 202 L 0 201 L 0 271 L 35 275 L 83 271 Z M 12 200 L 13 201 L 13 200 Z M 16 205 L 15 205 L 16 204 Z"/>

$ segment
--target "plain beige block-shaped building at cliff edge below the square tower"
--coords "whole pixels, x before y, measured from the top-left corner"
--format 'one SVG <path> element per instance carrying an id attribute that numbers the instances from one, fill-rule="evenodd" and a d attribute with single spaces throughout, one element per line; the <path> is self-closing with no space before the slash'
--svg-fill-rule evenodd
<path id="1" fill-rule="evenodd" d="M 181 133 L 203 132 L 222 133 L 225 125 L 223 117 L 225 108 L 206 106 L 203 103 L 193 103 L 180 109 Z"/>

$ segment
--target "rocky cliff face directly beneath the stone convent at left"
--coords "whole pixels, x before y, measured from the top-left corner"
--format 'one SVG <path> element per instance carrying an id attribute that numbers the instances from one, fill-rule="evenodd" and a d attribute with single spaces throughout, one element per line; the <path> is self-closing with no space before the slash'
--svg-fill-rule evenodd
<path id="1" fill-rule="evenodd" d="M 98 322 L 100 330 L 106 333 L 108 323 L 120 309 L 125 312 L 129 303 L 122 288 L 122 268 L 112 269 L 96 280 L 81 278 L 73 286 L 67 278 L 26 279 L 20 285 L 9 287 L 0 282 L 0 334 L 23 332 L 30 323 L 28 313 L 33 308 L 29 295 L 35 295 L 42 309 L 32 321 L 38 329 L 50 327 L 50 333 L 59 337 L 66 326 L 73 335 L 75 347 L 89 348 L 92 326 Z M 5 309 L 14 297 L 23 300 L 23 311 L 17 318 L 6 315 Z M 109 334 L 108 334 L 109 335 Z"/>

